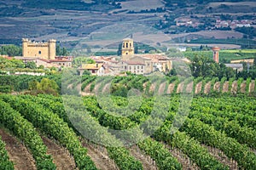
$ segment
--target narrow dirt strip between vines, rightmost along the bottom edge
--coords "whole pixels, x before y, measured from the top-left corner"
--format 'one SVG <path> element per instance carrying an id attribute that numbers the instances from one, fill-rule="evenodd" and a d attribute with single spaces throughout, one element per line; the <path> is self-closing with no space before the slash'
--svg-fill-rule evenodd
<path id="1" fill-rule="evenodd" d="M 230 159 L 224 155 L 223 151 L 218 150 L 217 148 L 212 148 L 211 146 L 207 146 L 204 144 L 201 144 L 203 147 L 207 148 L 210 155 L 214 156 L 218 161 L 223 163 L 224 165 L 227 165 L 232 170 L 238 169 L 237 162 L 236 161 L 230 161 Z"/>

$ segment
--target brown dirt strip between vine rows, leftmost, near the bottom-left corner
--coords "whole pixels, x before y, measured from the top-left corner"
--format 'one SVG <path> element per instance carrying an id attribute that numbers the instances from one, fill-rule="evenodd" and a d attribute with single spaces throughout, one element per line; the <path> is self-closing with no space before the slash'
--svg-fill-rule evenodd
<path id="1" fill-rule="evenodd" d="M 16 170 L 36 170 L 36 163 L 23 144 L 0 128 L 0 136 L 5 142 L 10 161 L 15 163 Z"/>

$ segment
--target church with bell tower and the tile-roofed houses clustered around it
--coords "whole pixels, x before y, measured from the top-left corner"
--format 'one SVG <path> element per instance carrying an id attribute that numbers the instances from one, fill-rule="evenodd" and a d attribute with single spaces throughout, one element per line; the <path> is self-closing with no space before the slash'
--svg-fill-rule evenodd
<path id="1" fill-rule="evenodd" d="M 84 70 L 90 71 L 92 75 L 116 76 L 124 72 L 131 72 L 137 75 L 147 75 L 154 71 L 167 72 L 172 70 L 172 59 L 167 58 L 166 54 L 135 54 L 134 42 L 131 38 L 125 38 L 122 42 L 121 56 L 105 57 L 91 56 L 96 61 L 92 65 L 81 65 L 80 74 Z"/>

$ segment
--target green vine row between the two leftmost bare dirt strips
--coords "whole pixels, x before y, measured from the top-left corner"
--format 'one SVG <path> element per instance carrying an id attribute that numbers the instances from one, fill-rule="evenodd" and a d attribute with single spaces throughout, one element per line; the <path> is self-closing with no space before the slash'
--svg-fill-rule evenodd
<path id="1" fill-rule="evenodd" d="M 15 133 L 26 146 L 31 150 L 38 169 L 56 169 L 51 156 L 46 154 L 46 146 L 39 134 L 35 131 L 31 122 L 26 121 L 19 112 L 13 110 L 11 106 L 0 99 L 1 123 Z"/>

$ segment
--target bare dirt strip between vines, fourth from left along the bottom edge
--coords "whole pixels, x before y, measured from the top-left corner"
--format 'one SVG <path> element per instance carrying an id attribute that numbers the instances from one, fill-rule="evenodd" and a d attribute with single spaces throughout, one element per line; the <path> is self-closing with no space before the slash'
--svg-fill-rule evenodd
<path id="1" fill-rule="evenodd" d="M 142 162 L 143 169 L 157 170 L 157 167 L 154 165 L 152 158 L 150 156 L 144 156 L 142 151 L 137 146 L 131 146 L 129 150 L 132 156 L 134 156 L 138 161 Z"/>

